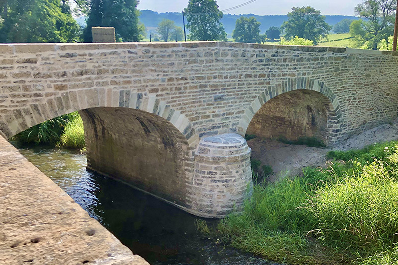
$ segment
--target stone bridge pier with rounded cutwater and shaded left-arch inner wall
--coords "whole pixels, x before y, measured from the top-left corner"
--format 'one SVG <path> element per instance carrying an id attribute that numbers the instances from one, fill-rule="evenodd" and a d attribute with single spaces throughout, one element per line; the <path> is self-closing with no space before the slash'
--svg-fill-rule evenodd
<path id="1" fill-rule="evenodd" d="M 122 107 L 79 113 L 92 171 L 203 217 L 239 209 L 252 191 L 251 149 L 238 134 L 204 137 L 193 149 L 168 114 Z"/>

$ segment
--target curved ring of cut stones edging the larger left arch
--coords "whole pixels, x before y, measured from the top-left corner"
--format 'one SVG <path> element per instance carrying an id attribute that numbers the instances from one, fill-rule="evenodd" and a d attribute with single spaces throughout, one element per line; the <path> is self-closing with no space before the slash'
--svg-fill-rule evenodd
<path id="1" fill-rule="evenodd" d="M 132 92 L 129 89 L 84 89 L 63 92 L 38 103 L 13 111 L 0 124 L 0 132 L 10 138 L 34 125 L 74 111 L 97 107 L 132 108 L 157 115 L 174 125 L 187 139 L 192 149 L 199 143 L 194 127 L 180 111 L 170 107 L 155 95 Z"/>

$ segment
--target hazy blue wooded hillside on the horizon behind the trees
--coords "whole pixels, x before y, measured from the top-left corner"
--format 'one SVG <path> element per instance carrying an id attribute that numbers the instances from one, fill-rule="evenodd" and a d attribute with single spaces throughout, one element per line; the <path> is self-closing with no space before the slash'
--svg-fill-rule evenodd
<path id="1" fill-rule="evenodd" d="M 288 20 L 286 15 L 253 15 L 253 14 L 244 14 L 242 16 L 250 17 L 254 16 L 258 22 L 261 23 L 260 30 L 264 33 L 269 27 L 280 27 L 285 20 Z M 226 14 L 221 19 L 222 24 L 225 27 L 225 31 L 228 34 L 232 33 L 232 30 L 235 28 L 236 20 L 239 18 L 239 15 L 231 15 Z M 151 10 L 141 10 L 140 21 L 144 23 L 147 30 L 156 29 L 162 19 L 167 18 L 173 20 L 177 26 L 183 26 L 183 18 L 181 13 L 173 12 L 173 13 L 158 13 Z M 337 22 L 348 18 L 348 19 L 359 19 L 355 16 L 344 16 L 344 15 L 327 15 L 326 22 L 330 25 L 334 25 Z"/>

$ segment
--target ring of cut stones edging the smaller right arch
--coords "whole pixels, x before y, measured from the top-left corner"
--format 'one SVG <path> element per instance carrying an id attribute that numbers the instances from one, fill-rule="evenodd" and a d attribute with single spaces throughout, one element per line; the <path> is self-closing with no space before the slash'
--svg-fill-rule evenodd
<path id="1" fill-rule="evenodd" d="M 258 113 L 271 99 L 275 99 L 278 96 L 285 96 L 290 94 L 289 92 L 299 90 L 307 90 L 313 97 L 316 97 L 316 100 L 321 101 L 320 104 L 323 105 L 325 109 L 327 119 L 325 121 L 325 142 L 329 146 L 338 143 L 341 140 L 341 127 L 344 126 L 339 100 L 324 82 L 306 77 L 289 78 L 275 86 L 268 86 L 251 105 L 246 108 L 239 122 L 239 134 L 242 136 L 246 134 L 253 118 L 259 115 Z"/>

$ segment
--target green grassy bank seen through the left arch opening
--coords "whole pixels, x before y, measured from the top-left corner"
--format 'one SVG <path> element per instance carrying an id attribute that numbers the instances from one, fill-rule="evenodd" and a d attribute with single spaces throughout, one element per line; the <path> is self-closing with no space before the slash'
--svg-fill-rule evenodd
<path id="1" fill-rule="evenodd" d="M 70 148 L 84 147 L 83 121 L 78 112 L 56 117 L 33 126 L 12 140 L 22 144 L 45 144 Z"/>

